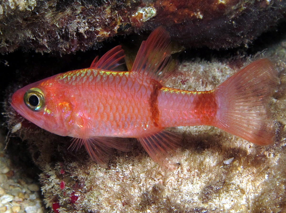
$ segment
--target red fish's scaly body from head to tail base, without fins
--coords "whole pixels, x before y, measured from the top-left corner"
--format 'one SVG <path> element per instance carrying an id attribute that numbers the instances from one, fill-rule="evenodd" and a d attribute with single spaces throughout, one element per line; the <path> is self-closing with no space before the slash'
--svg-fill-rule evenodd
<path id="1" fill-rule="evenodd" d="M 46 91 L 37 125 L 61 136 L 77 137 L 88 124 L 88 137 L 140 138 L 166 127 L 207 125 L 217 111 L 212 91 L 163 87 L 137 72 L 82 69 L 28 86 Z M 26 119 L 34 117 L 27 112 Z"/>

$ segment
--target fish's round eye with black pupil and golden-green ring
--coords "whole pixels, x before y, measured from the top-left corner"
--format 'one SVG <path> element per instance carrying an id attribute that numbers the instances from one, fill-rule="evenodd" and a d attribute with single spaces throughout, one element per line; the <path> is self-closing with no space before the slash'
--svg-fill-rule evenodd
<path id="1" fill-rule="evenodd" d="M 40 111 L 45 107 L 44 93 L 39 88 L 31 88 L 24 95 L 24 103 L 33 111 Z"/>

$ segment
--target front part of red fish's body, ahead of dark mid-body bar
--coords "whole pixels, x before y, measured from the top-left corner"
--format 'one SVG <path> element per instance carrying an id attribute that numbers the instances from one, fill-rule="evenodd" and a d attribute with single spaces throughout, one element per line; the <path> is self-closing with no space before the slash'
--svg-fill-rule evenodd
<path id="1" fill-rule="evenodd" d="M 156 106 L 152 106 L 151 94 L 158 82 L 144 77 L 128 71 L 82 69 L 36 82 L 32 88 L 46 91 L 37 125 L 70 137 L 77 137 L 87 125 L 88 137 L 139 138 L 154 133 L 162 129 L 152 118 L 152 107 Z M 20 97 L 26 91 L 23 88 Z M 36 114 L 28 112 L 22 113 L 27 119 Z"/>

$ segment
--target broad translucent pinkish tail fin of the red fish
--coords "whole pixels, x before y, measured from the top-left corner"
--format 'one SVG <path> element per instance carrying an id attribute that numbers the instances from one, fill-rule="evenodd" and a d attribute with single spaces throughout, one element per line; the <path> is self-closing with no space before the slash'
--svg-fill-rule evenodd
<path id="1" fill-rule="evenodd" d="M 217 127 L 255 143 L 275 141 L 270 101 L 278 85 L 278 72 L 267 58 L 257 60 L 223 82 L 216 90 Z"/>

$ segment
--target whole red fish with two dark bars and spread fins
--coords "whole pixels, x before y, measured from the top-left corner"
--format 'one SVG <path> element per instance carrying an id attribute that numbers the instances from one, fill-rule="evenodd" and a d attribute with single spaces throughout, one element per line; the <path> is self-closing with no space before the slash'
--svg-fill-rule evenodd
<path id="1" fill-rule="evenodd" d="M 45 78 L 15 92 L 11 105 L 39 127 L 74 137 L 90 157 L 107 167 L 112 148 L 128 151 L 120 138 L 137 138 L 165 169 L 174 168 L 180 146 L 169 127 L 212 125 L 258 145 L 275 140 L 269 102 L 277 70 L 268 59 L 243 68 L 215 90 L 186 91 L 164 86 L 174 73 L 169 34 L 163 27 L 143 41 L 131 71 L 118 71 L 121 46 L 90 68 Z"/>

